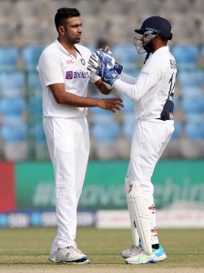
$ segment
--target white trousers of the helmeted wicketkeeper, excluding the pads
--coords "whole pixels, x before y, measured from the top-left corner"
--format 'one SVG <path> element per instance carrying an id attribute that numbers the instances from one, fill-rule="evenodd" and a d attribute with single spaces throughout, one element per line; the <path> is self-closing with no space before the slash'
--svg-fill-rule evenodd
<path id="1" fill-rule="evenodd" d="M 129 185 L 138 183 L 148 207 L 154 205 L 154 186 L 151 177 L 173 131 L 174 122 L 172 120 L 137 121 L 135 123 L 127 180 Z M 126 191 L 129 185 L 126 185 Z M 151 229 L 154 230 L 156 228 L 155 213 L 150 212 L 150 224 Z M 158 238 L 152 243 L 158 243 Z"/>

